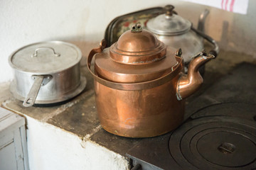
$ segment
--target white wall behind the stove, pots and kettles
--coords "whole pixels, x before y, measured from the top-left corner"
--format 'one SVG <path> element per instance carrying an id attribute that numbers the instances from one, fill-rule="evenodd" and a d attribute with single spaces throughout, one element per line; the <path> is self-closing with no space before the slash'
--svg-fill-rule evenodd
<path id="1" fill-rule="evenodd" d="M 256 1 L 252 0 L 247 15 L 177 0 L 0 0 L 0 82 L 12 79 L 8 57 L 23 45 L 46 40 L 100 42 L 116 16 L 166 4 L 174 4 L 194 25 L 203 8 L 209 8 L 206 33 L 222 48 L 255 55 Z"/>

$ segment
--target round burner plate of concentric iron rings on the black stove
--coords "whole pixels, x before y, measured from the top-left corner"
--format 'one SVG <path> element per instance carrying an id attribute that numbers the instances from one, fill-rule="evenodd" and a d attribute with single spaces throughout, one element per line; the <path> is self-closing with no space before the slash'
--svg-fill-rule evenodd
<path id="1" fill-rule="evenodd" d="M 228 116 L 198 118 L 174 131 L 169 151 L 183 169 L 255 169 L 256 125 Z"/>

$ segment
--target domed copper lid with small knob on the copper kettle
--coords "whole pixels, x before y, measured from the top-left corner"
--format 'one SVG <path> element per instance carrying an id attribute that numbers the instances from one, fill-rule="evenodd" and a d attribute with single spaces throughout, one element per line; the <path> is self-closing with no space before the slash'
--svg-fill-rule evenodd
<path id="1" fill-rule="evenodd" d="M 123 64 L 149 64 L 161 60 L 166 55 L 166 45 L 140 24 L 123 33 L 110 47 L 110 57 Z"/>

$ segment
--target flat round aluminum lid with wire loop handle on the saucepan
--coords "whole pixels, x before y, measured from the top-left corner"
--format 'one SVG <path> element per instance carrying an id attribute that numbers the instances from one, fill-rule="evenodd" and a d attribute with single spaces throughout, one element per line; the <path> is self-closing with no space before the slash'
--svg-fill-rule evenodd
<path id="1" fill-rule="evenodd" d="M 81 58 L 80 49 L 75 45 L 48 41 L 21 47 L 9 57 L 9 64 L 22 72 L 50 74 L 73 67 Z"/>

